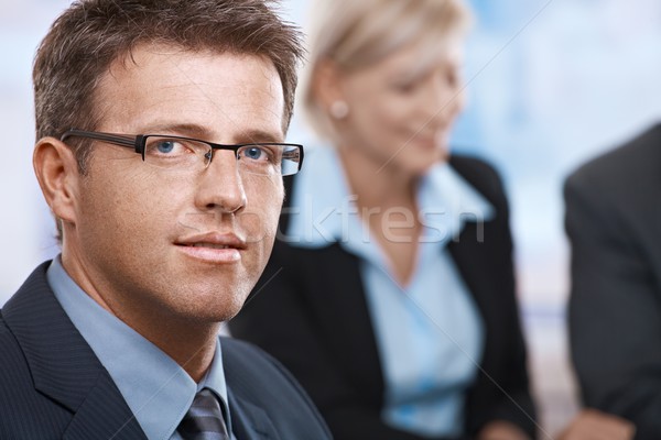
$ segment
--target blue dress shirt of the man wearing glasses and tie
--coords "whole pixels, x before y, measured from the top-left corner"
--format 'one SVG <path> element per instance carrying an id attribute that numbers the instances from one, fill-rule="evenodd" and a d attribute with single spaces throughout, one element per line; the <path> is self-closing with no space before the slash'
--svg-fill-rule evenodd
<path id="1" fill-rule="evenodd" d="M 68 276 L 59 256 L 46 276 L 64 311 L 112 377 L 149 440 L 181 440 L 176 428 L 197 391 L 205 387 L 225 405 L 231 430 L 219 340 L 210 369 L 196 384 L 156 345 L 85 294 Z"/>

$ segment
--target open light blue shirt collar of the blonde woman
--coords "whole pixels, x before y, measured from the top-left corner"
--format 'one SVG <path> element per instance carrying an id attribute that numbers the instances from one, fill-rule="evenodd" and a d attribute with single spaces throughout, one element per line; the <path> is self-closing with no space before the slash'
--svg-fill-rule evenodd
<path id="1" fill-rule="evenodd" d="M 323 248 L 333 242 L 351 246 L 367 242 L 356 196 L 350 194 L 337 152 L 315 147 L 306 153 L 305 166 L 296 176 L 285 240 L 300 248 Z M 421 240 L 444 244 L 458 235 L 465 222 L 490 220 L 492 206 L 449 164 L 438 163 L 421 178 L 418 189 Z"/>

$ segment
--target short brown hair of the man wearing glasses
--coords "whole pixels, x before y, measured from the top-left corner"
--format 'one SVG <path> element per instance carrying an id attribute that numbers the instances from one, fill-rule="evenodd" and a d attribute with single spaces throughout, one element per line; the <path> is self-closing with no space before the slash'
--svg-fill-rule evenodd
<path id="1" fill-rule="evenodd" d="M 303 55 L 301 34 L 271 0 L 78 0 L 52 25 L 34 61 L 36 139 L 71 128 L 95 130 L 99 80 L 139 44 L 251 54 L 270 59 L 284 92 L 289 127 Z M 85 173 L 89 148 L 72 145 Z"/>

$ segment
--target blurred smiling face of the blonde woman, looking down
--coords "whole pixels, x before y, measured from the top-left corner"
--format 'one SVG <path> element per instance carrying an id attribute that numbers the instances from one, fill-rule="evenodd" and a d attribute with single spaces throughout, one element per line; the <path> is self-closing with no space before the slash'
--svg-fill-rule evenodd
<path id="1" fill-rule="evenodd" d="M 339 92 L 349 107 L 337 121 L 340 146 L 379 168 L 413 175 L 446 158 L 449 131 L 464 103 L 460 55 L 456 43 L 418 44 L 339 73 Z"/>

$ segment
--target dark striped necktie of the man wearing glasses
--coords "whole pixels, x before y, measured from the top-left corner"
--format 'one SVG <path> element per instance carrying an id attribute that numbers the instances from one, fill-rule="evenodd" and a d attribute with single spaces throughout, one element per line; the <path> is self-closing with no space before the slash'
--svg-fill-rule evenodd
<path id="1" fill-rule="evenodd" d="M 230 440 L 218 399 L 208 388 L 195 395 L 177 432 L 185 440 Z"/>

